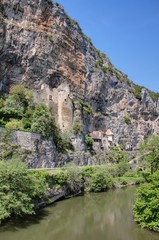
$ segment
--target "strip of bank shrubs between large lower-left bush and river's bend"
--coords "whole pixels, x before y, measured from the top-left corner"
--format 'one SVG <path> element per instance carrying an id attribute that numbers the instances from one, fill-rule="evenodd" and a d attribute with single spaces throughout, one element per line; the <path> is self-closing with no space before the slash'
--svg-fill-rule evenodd
<path id="1" fill-rule="evenodd" d="M 67 199 L 86 192 L 105 192 L 109 189 L 123 188 L 144 182 L 141 172 L 130 170 L 122 174 L 116 164 L 90 167 L 71 165 L 56 170 L 39 170 L 38 172 L 45 175 L 48 183 L 49 198 L 46 199 L 44 205 L 50 205 L 61 198 Z"/>

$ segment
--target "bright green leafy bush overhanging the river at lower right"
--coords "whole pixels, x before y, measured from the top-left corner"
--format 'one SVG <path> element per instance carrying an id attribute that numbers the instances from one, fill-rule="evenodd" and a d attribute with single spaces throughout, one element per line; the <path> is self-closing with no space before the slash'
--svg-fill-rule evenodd
<path id="1" fill-rule="evenodd" d="M 142 227 L 159 231 L 159 171 L 138 189 L 134 216 Z"/>

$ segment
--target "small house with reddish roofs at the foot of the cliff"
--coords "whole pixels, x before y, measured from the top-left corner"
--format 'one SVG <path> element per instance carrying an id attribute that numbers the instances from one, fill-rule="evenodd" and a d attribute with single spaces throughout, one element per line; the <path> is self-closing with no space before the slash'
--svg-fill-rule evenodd
<path id="1" fill-rule="evenodd" d="M 114 134 L 110 129 L 103 131 L 93 131 L 89 133 L 93 139 L 93 147 L 95 150 L 109 149 L 114 145 Z"/>

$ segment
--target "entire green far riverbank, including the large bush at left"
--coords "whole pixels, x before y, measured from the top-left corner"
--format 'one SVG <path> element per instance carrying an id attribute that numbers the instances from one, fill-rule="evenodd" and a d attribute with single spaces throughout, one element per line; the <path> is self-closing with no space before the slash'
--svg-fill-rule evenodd
<path id="1" fill-rule="evenodd" d="M 0 161 L 0 179 L 0 221 L 35 214 L 37 208 L 53 203 L 59 196 L 68 198 L 143 182 L 142 174 L 132 171 L 127 162 L 30 171 L 15 159 Z"/>

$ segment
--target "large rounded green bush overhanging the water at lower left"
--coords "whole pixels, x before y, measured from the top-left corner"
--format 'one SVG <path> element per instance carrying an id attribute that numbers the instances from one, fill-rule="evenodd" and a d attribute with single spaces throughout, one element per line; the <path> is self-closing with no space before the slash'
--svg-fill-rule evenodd
<path id="1" fill-rule="evenodd" d="M 44 181 L 16 160 L 0 161 L 0 179 L 0 221 L 34 214 L 34 204 L 44 192 Z"/>

